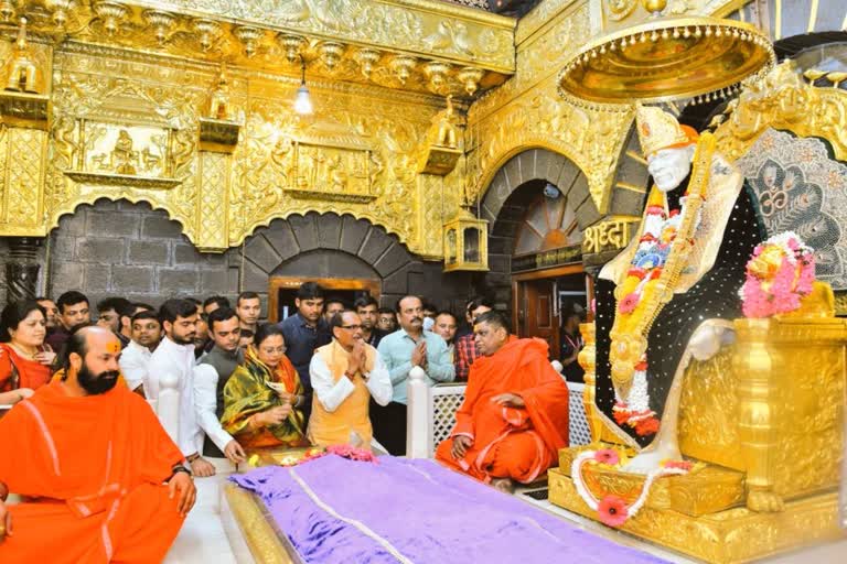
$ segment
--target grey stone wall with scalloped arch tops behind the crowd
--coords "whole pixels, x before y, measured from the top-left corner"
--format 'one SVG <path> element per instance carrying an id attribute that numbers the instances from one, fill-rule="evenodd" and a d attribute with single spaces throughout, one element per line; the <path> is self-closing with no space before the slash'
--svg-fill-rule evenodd
<path id="1" fill-rule="evenodd" d="M 112 295 L 152 305 L 212 294 L 234 301 L 239 290 L 258 292 L 266 305 L 271 275 L 376 278 L 388 306 L 412 293 L 461 311 L 470 293 L 467 274 L 444 274 L 440 262 L 421 261 L 382 227 L 335 214 L 277 219 L 243 247 L 211 254 L 199 252 L 162 210 L 99 199 L 64 216 L 51 238 L 49 294 L 79 290 L 92 305 Z"/>

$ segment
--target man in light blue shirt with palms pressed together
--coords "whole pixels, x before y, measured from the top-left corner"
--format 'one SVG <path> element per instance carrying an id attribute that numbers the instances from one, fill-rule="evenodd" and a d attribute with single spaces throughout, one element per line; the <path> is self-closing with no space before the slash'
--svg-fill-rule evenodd
<path id="1" fill-rule="evenodd" d="M 400 328 L 386 335 L 377 350 L 388 368 L 394 386 L 392 403 L 372 412 L 376 440 L 395 456 L 406 454 L 406 387 L 409 371 L 419 366 L 428 383 L 451 382 L 455 369 L 439 335 L 424 330 L 424 304 L 418 296 L 407 295 L 397 302 Z"/>

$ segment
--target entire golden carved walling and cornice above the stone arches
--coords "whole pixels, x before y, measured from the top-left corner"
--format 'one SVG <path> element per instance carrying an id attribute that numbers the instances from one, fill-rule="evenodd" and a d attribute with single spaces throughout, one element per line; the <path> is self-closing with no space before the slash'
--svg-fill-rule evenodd
<path id="1" fill-rule="evenodd" d="M 0 123 L 0 236 L 43 236 L 63 214 L 106 196 L 168 210 L 207 251 L 239 245 L 277 217 L 332 210 L 440 259 L 440 226 L 533 147 L 573 161 L 609 212 L 631 111 L 565 100 L 556 76 L 585 41 L 644 19 L 635 0 L 545 0 L 516 26 L 429 0 L 96 1 L 60 14 L 61 4 L 26 4 L 50 116 L 35 128 Z M 668 9 L 736 6 L 674 0 Z M 13 24 L 0 31 L 11 39 Z M 9 48 L 0 43 L 4 58 Z M 300 56 L 311 119 L 290 109 Z M 239 126 L 228 153 L 199 140 L 222 61 Z M 470 98 L 475 88 L 489 90 Z M 446 93 L 464 153 L 446 176 L 420 174 L 427 139 L 447 119 Z M 26 101 L 19 98 L 0 105 L 4 118 Z"/>

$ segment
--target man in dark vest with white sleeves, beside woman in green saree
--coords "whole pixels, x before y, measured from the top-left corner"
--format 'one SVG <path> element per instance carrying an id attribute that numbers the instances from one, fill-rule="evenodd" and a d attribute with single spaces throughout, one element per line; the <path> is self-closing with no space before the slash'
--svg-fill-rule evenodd
<path id="1" fill-rule="evenodd" d="M 205 433 L 203 456 L 223 458 L 233 464 L 245 460 L 242 445 L 221 426 L 224 413 L 224 386 L 244 362 L 238 348 L 240 321 L 229 307 L 219 307 L 208 315 L 208 334 L 214 347 L 194 367 L 194 410 L 197 423 Z"/>

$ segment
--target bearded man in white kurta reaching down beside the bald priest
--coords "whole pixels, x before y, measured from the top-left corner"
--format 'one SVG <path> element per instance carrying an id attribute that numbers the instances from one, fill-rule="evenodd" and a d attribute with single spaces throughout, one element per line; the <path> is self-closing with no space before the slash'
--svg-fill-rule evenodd
<path id="1" fill-rule="evenodd" d="M 144 391 L 149 399 L 159 400 L 161 382 L 176 382 L 180 392 L 179 427 L 164 429 L 191 463 L 195 476 L 215 474 L 215 467 L 200 456 L 203 434 L 194 414 L 194 337 L 197 306 L 187 300 L 168 300 L 159 310 L 164 338 L 150 357 Z"/>

